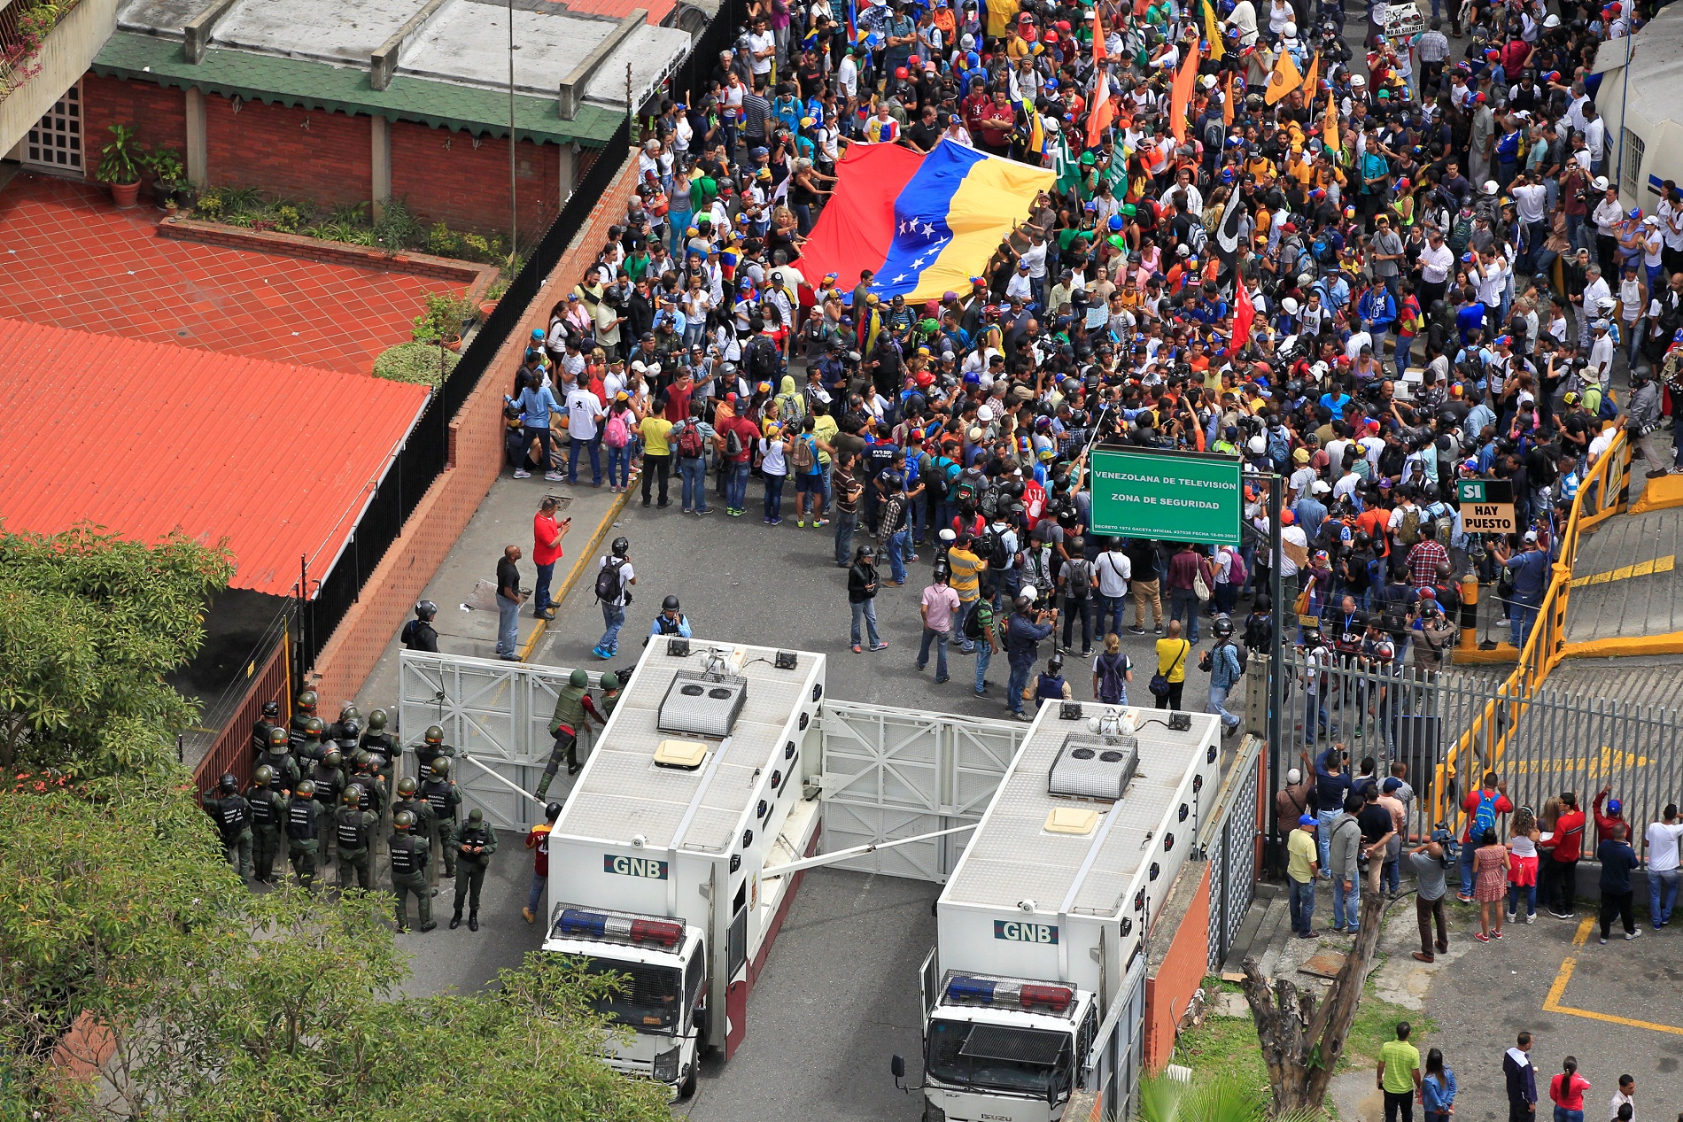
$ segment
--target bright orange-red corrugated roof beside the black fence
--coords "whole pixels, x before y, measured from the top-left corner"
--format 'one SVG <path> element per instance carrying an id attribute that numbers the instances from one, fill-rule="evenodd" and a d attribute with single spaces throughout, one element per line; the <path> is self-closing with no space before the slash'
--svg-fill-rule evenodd
<path id="1" fill-rule="evenodd" d="M 0 518 L 13 532 L 86 520 L 143 542 L 175 528 L 227 538 L 234 587 L 288 595 L 300 555 L 327 577 L 426 397 L 355 373 L 0 320 Z"/>

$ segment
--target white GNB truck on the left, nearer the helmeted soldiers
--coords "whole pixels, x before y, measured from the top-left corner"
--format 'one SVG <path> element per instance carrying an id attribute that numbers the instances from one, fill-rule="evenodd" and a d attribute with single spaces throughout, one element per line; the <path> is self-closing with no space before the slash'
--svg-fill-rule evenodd
<path id="1" fill-rule="evenodd" d="M 821 654 L 653 639 L 550 833 L 544 950 L 621 977 L 609 1063 L 677 1097 L 741 1043 L 799 883 L 778 866 L 818 844 L 801 745 L 823 690 Z"/>

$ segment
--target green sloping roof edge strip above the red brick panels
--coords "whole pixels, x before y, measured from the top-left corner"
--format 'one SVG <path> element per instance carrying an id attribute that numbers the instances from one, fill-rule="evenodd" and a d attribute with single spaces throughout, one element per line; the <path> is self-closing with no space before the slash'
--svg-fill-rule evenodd
<path id="1" fill-rule="evenodd" d="M 508 93 L 476 89 L 399 74 L 385 89 L 369 86 L 369 71 L 283 59 L 252 50 L 210 47 L 197 66 L 182 57 L 182 44 L 157 35 L 116 32 L 93 62 L 101 77 L 128 77 L 160 86 L 247 98 L 271 104 L 340 113 L 380 114 L 392 121 L 421 121 L 453 131 L 508 135 Z M 560 118 L 555 98 L 515 98 L 515 133 L 537 143 L 601 146 L 624 121 L 624 113 L 581 104 L 571 121 Z"/>

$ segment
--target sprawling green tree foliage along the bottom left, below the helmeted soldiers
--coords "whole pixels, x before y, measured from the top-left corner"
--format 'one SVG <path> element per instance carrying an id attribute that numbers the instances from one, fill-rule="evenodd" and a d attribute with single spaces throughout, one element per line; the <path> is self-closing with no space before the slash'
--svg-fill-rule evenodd
<path id="1" fill-rule="evenodd" d="M 488 992 L 401 999 L 389 908 L 247 893 L 173 787 L 0 794 L 0 1055 L 71 1122 L 670 1117 L 597 1058 L 611 982 L 532 954 Z M 64 1060 L 103 1078 L 66 1085 Z"/>

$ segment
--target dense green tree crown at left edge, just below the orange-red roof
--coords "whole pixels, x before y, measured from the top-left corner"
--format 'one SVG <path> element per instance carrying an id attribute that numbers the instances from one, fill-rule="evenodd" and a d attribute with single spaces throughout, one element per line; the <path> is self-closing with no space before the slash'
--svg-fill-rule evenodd
<path id="1" fill-rule="evenodd" d="M 163 675 L 199 649 L 205 602 L 232 575 L 224 547 L 180 533 L 0 530 L 0 769 L 162 765 L 195 713 Z"/>

